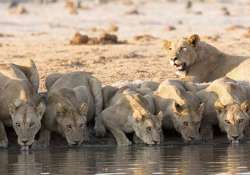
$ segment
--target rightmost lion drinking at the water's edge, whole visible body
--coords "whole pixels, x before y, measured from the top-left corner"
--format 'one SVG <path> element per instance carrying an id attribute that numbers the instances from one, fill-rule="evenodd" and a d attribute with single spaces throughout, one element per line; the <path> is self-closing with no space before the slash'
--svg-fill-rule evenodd
<path id="1" fill-rule="evenodd" d="M 244 82 L 223 77 L 197 92 L 206 104 L 201 125 L 204 140 L 213 138 L 213 125 L 219 125 L 232 143 L 239 143 L 249 125 L 249 91 Z"/>

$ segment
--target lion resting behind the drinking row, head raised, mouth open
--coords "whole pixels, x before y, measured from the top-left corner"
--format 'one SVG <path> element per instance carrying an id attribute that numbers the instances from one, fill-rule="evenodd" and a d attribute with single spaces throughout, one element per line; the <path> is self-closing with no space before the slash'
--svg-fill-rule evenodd
<path id="1" fill-rule="evenodd" d="M 250 59 L 228 55 L 201 41 L 196 34 L 177 41 L 165 41 L 164 48 L 176 74 L 184 80 L 211 82 L 223 76 L 249 81 Z"/>

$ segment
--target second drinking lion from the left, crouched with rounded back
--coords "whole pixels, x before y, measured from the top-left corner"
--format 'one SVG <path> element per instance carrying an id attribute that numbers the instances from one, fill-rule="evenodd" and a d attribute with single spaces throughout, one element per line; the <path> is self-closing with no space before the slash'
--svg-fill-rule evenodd
<path id="1" fill-rule="evenodd" d="M 47 108 L 36 146 L 47 147 L 50 133 L 63 136 L 69 146 L 88 141 L 87 124 L 103 108 L 102 85 L 86 72 L 52 74 L 46 79 Z"/>

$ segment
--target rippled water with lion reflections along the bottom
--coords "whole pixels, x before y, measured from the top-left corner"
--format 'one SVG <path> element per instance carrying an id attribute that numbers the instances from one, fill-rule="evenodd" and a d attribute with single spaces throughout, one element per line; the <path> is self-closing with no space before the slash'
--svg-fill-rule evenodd
<path id="1" fill-rule="evenodd" d="M 236 174 L 250 172 L 249 145 L 84 147 L 0 151 L 0 174 Z"/>

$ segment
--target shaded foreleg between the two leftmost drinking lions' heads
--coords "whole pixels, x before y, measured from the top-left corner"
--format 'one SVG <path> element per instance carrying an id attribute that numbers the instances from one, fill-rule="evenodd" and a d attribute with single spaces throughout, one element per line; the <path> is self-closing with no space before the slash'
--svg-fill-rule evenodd
<path id="1" fill-rule="evenodd" d="M 50 144 L 50 131 L 41 129 L 39 139 L 32 145 L 32 148 L 47 148 Z"/>

